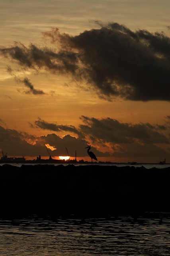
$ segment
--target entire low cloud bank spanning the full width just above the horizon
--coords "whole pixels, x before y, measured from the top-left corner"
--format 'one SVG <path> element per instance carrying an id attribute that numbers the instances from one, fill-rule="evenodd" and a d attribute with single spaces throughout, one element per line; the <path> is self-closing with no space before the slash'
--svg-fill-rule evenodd
<path id="1" fill-rule="evenodd" d="M 83 158 L 87 156 L 84 148 L 90 144 L 99 159 L 111 156 L 120 158 L 120 162 L 123 158 L 138 158 L 142 162 L 143 158 L 164 159 L 170 156 L 170 116 L 166 117 L 164 125 L 161 126 L 122 123 L 111 118 L 97 119 L 87 116 L 81 116 L 80 120 L 82 124 L 76 128 L 48 123 L 38 118 L 30 124 L 32 128 L 53 132 L 40 137 L 0 126 L 0 149 L 8 152 L 9 156 L 46 156 L 44 144 L 49 144 L 54 148 L 53 151 L 49 149 L 51 156 L 65 155 L 67 148 L 70 156 L 74 157 L 76 151 L 77 157 Z M 62 131 L 68 134 L 62 137 L 57 135 Z"/>

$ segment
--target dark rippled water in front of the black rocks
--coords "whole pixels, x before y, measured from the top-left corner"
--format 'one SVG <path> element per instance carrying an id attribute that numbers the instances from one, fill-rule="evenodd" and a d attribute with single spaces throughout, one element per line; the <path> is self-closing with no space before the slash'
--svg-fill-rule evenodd
<path id="1" fill-rule="evenodd" d="M 1 256 L 169 256 L 170 214 L 0 220 Z"/>

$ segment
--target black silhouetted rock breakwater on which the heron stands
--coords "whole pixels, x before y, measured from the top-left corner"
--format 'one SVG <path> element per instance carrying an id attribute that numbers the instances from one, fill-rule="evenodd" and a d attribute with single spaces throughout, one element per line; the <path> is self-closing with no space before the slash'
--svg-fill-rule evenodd
<path id="1" fill-rule="evenodd" d="M 170 212 L 170 168 L 0 166 L 0 217 Z"/>

